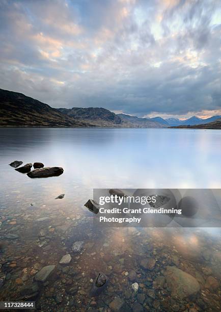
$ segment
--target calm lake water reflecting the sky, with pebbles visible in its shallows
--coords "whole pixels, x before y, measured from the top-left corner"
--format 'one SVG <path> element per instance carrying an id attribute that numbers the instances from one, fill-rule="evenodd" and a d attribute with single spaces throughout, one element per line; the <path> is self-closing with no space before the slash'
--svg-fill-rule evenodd
<path id="1" fill-rule="evenodd" d="M 0 129 L 1 299 L 42 311 L 220 310 L 219 229 L 98 229 L 82 206 L 93 188 L 220 188 L 220 143 L 212 130 Z M 64 173 L 30 179 L 14 160 Z M 100 271 L 108 281 L 96 289 Z"/>

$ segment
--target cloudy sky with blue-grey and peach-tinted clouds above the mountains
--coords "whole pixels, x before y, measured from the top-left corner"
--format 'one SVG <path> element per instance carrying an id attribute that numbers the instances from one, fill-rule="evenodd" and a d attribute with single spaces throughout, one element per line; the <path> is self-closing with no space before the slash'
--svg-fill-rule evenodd
<path id="1" fill-rule="evenodd" d="M 55 108 L 221 115 L 220 0 L 0 0 L 0 88 Z"/>

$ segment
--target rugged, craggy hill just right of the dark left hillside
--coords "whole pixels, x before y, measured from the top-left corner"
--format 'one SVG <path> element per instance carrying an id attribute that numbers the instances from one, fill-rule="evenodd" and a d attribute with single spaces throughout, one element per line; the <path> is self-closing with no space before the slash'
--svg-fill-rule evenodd
<path id="1" fill-rule="evenodd" d="M 110 112 L 104 108 L 89 107 L 72 109 L 60 108 L 59 111 L 63 114 L 73 117 L 77 120 L 90 122 L 99 126 L 122 126 L 122 120 L 115 113 Z"/>

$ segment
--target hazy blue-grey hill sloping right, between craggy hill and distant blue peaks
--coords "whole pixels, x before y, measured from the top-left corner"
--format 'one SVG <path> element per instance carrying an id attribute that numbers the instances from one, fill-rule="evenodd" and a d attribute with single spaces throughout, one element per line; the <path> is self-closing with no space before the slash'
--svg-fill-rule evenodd
<path id="1" fill-rule="evenodd" d="M 139 118 L 136 116 L 130 116 L 126 114 L 117 114 L 124 124 L 131 127 L 145 127 L 145 128 L 162 128 L 165 125 L 162 123 L 159 123 L 155 120 L 152 120 L 153 118 Z"/>

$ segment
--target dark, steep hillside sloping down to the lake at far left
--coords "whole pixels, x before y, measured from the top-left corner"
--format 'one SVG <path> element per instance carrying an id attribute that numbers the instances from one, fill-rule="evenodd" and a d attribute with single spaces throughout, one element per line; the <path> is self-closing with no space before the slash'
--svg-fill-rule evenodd
<path id="1" fill-rule="evenodd" d="M 1 127 L 78 127 L 93 126 L 62 114 L 32 97 L 0 89 Z"/>

